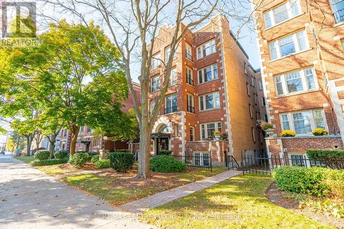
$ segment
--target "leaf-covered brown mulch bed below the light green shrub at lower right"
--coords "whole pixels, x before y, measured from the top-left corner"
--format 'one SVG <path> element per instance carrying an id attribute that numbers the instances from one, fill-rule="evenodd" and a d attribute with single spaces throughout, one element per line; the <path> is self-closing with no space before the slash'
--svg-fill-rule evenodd
<path id="1" fill-rule="evenodd" d="M 315 221 L 319 221 L 325 225 L 331 225 L 336 228 L 344 228 L 344 219 L 339 219 L 331 215 L 326 215 L 323 212 L 314 211 L 310 208 L 299 208 L 299 201 L 292 198 L 290 193 L 279 190 L 275 184 L 272 182 L 269 188 L 266 190 L 266 197 L 272 201 L 272 203 L 287 208 L 296 212 L 297 214 L 309 217 Z"/>

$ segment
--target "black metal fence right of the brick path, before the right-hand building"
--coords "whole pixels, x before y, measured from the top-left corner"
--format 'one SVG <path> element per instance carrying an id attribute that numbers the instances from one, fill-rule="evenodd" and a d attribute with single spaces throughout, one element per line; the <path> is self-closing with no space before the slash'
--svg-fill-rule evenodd
<path id="1" fill-rule="evenodd" d="M 344 166 L 344 161 L 338 161 L 338 163 Z M 272 157 L 255 157 L 253 155 L 244 156 L 241 160 L 241 171 L 245 173 L 263 173 L 271 174 L 274 168 L 279 166 L 303 166 L 306 168 L 312 166 L 319 166 L 323 168 L 330 168 L 324 162 L 319 162 L 314 159 L 310 159 L 305 155 L 290 155 L 290 157 L 284 156 L 272 156 Z"/>

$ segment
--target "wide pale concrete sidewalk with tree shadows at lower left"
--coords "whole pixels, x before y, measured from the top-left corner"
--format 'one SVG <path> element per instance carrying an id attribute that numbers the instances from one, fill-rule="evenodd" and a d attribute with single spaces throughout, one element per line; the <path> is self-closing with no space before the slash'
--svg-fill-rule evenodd
<path id="1" fill-rule="evenodd" d="M 105 201 L 0 155 L 0 228 L 155 228 Z"/>

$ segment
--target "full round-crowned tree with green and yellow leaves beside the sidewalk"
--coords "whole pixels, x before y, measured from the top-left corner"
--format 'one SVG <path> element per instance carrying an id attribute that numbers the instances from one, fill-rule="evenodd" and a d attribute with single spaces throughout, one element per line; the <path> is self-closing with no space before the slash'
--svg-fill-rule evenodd
<path id="1" fill-rule="evenodd" d="M 116 64 L 118 50 L 93 23 L 51 23 L 38 39 L 35 47 L 15 49 L 8 63 L 28 84 L 30 99 L 43 105 L 49 122 L 65 123 L 73 154 L 80 126 L 120 113 L 120 101 L 128 96 L 125 74 Z"/>

